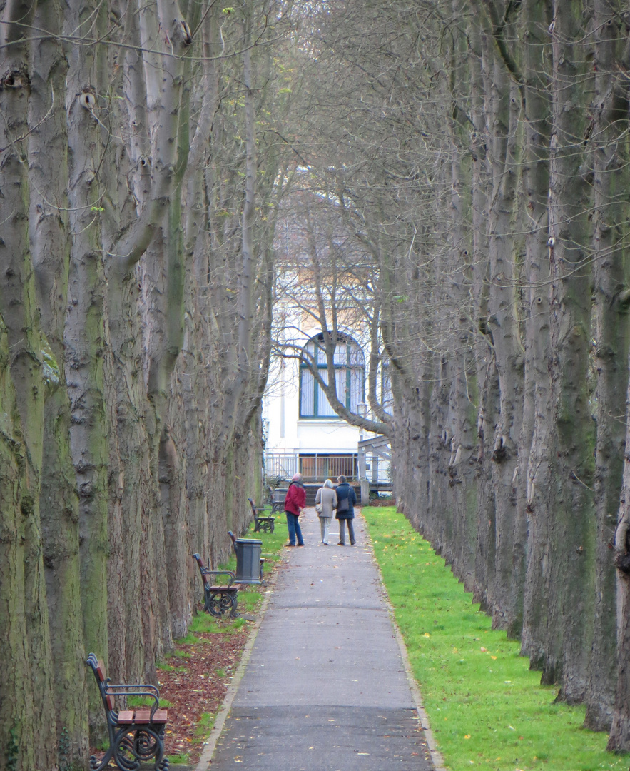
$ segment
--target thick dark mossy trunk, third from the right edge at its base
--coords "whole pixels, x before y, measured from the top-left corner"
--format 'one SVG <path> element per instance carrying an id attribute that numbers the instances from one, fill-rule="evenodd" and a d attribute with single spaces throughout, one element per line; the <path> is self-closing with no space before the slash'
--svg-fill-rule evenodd
<path id="1" fill-rule="evenodd" d="M 549 184 L 551 263 L 550 372 L 555 437 L 549 525 L 548 639 L 544 682 L 560 682 L 559 698 L 585 697 L 592 643 L 595 567 L 593 421 L 588 393 L 591 276 L 589 187 L 576 136 L 585 135 L 585 52 L 581 6 L 555 2 Z M 570 181 L 569 181 L 570 180 Z"/>

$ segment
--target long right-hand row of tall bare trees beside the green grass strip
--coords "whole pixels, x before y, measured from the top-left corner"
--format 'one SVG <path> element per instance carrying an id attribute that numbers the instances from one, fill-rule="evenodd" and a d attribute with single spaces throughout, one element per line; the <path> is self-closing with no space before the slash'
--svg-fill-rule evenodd
<path id="1" fill-rule="evenodd" d="M 353 420 L 390 436 L 399 507 L 612 750 L 630 749 L 629 31 L 614 0 L 324 3 L 297 118 L 318 194 L 293 215 L 323 326 L 350 303 L 377 336 L 378 422 Z"/>

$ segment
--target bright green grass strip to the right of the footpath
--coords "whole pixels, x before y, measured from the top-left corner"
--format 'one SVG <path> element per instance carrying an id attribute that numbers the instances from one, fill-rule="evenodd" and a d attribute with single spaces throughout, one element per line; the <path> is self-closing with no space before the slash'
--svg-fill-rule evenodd
<path id="1" fill-rule="evenodd" d="M 434 550 L 394 507 L 364 508 L 431 729 L 452 771 L 628 769 L 583 729 L 585 708 L 555 704 L 520 645 L 494 631 Z"/>

